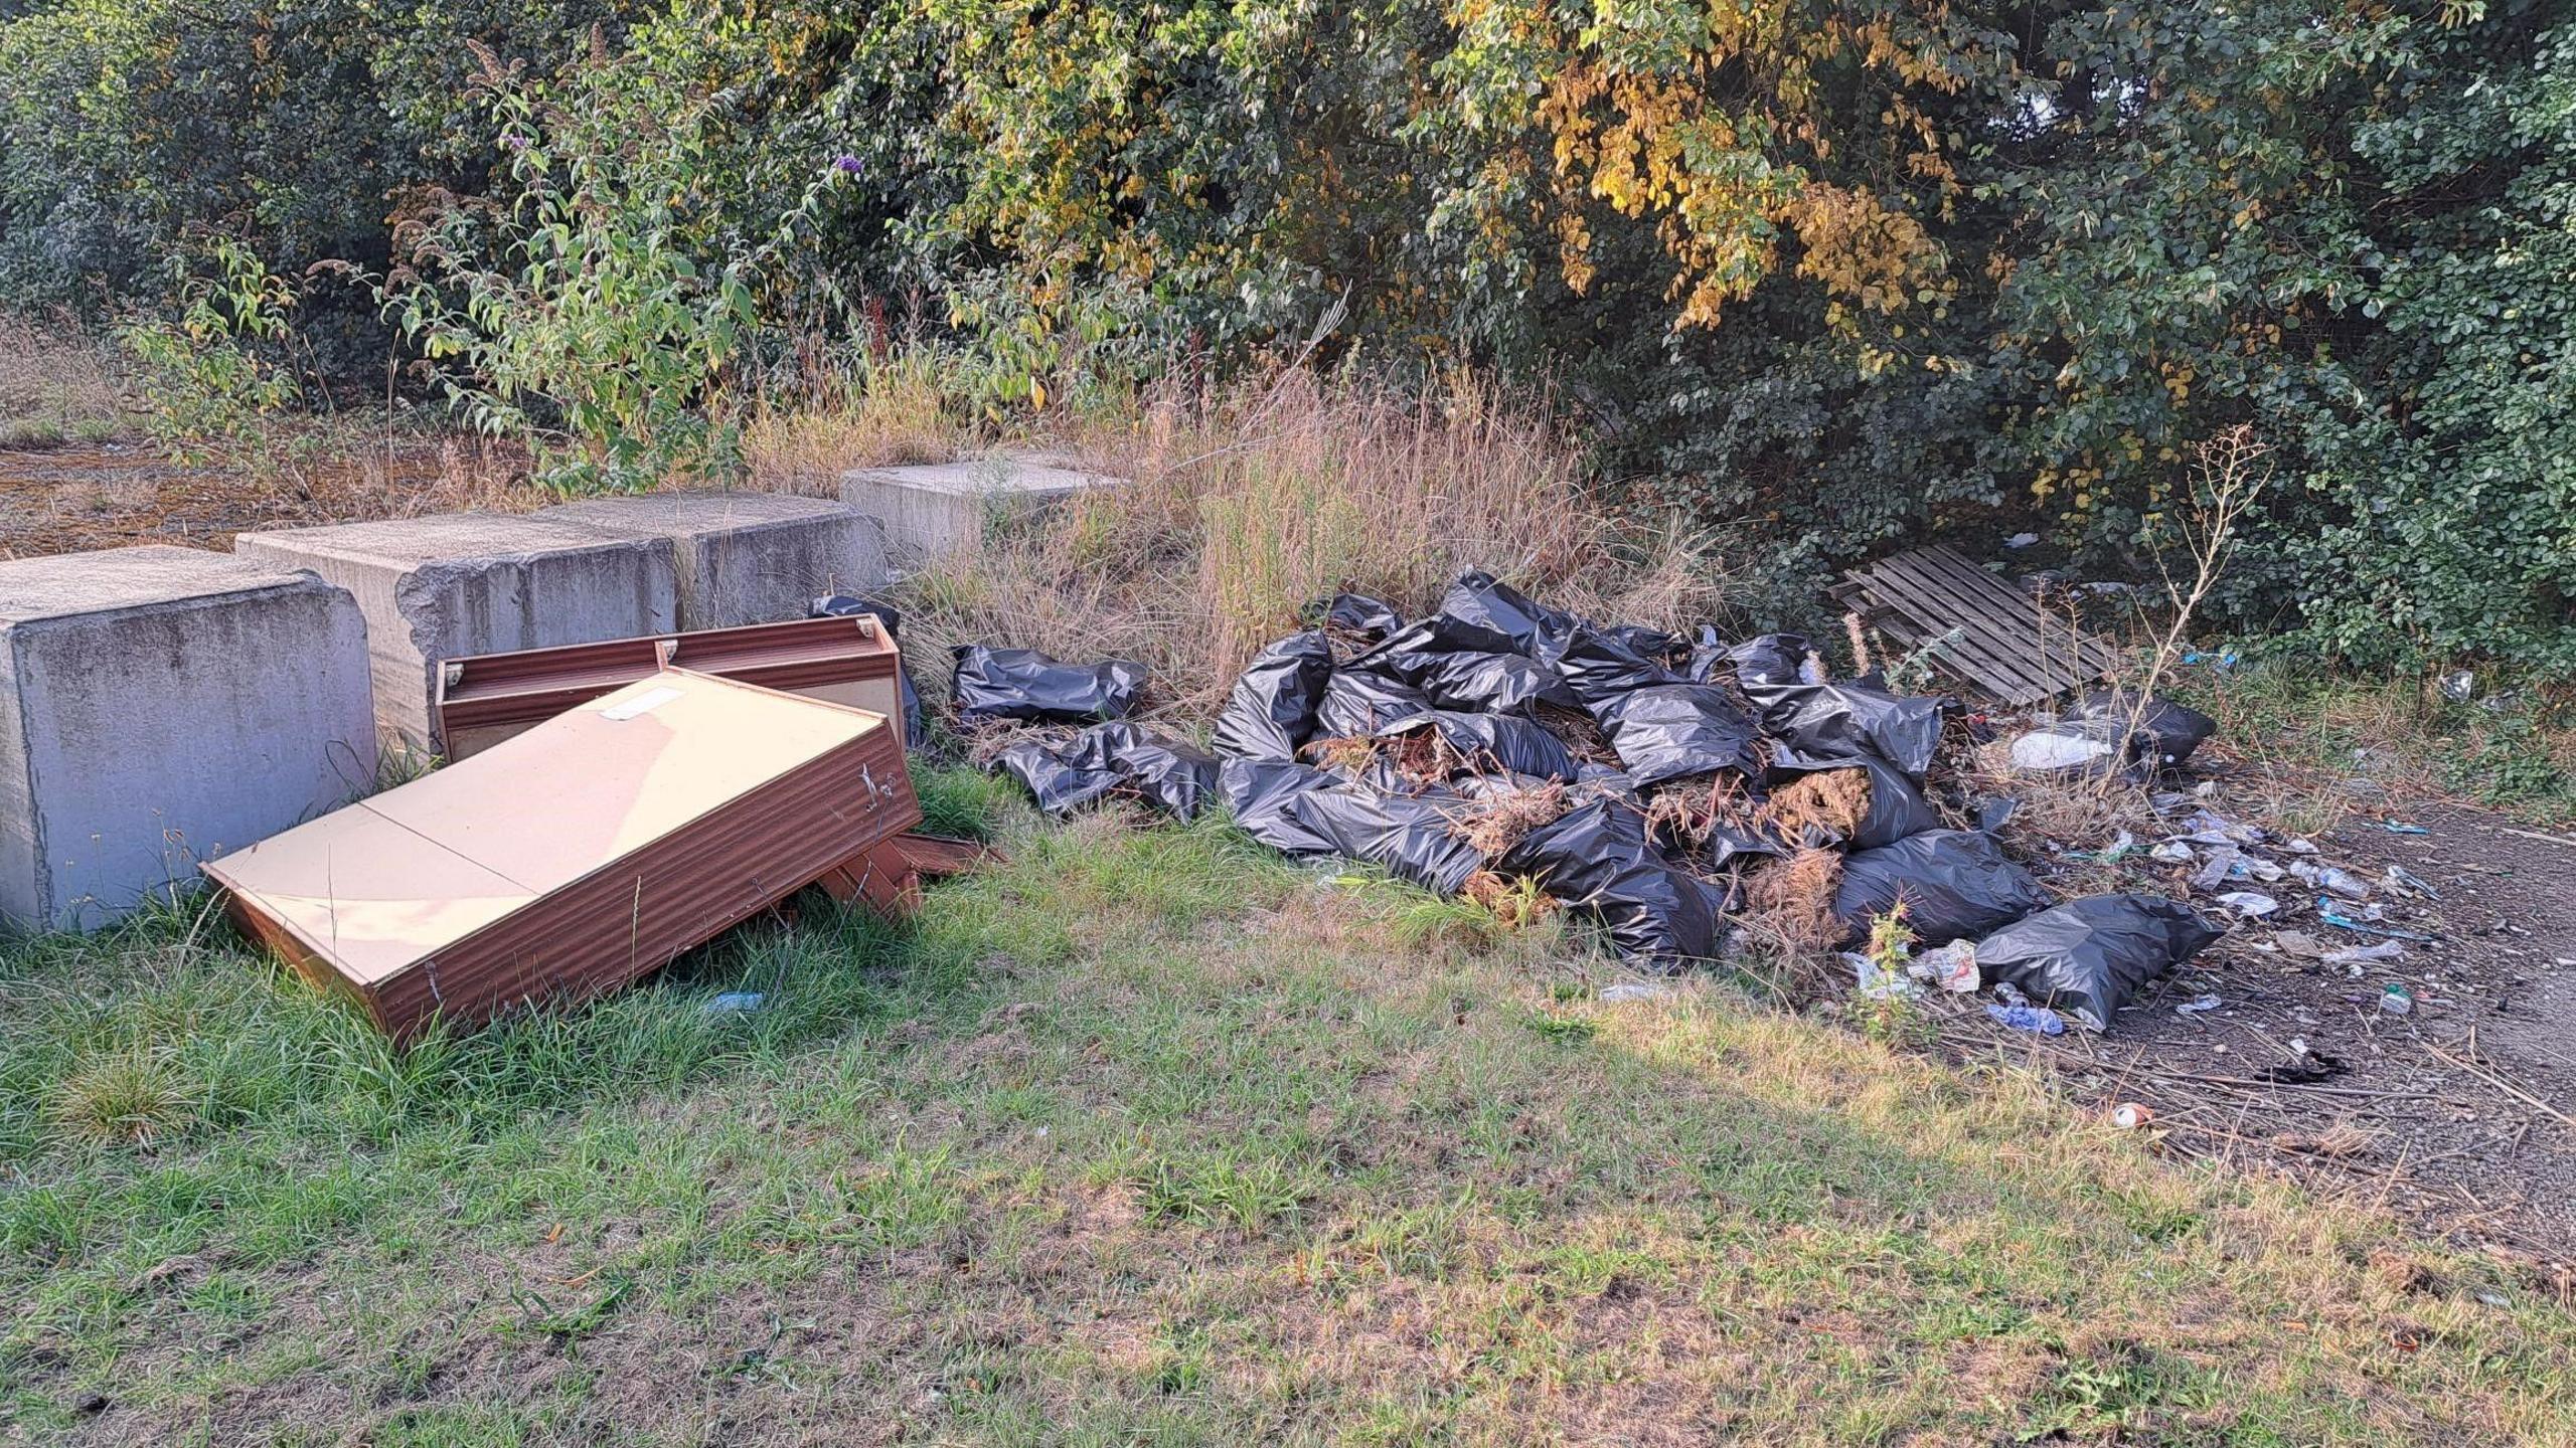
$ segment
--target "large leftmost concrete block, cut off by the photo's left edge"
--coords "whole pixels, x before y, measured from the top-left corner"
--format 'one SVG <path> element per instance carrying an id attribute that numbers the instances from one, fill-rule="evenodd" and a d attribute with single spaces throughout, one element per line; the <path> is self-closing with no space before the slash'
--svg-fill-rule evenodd
<path id="1" fill-rule="evenodd" d="M 0 562 L 0 920 L 88 930 L 376 783 L 366 621 L 204 549 Z"/>

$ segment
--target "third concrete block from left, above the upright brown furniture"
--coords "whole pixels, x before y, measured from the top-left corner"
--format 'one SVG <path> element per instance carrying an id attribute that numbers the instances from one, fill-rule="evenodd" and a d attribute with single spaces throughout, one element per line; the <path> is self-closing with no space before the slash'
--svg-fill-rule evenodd
<path id="1" fill-rule="evenodd" d="M 670 538 L 680 629 L 778 624 L 804 618 L 824 593 L 873 595 L 886 587 L 884 526 L 827 497 L 649 492 L 562 502 L 536 518 Z"/>

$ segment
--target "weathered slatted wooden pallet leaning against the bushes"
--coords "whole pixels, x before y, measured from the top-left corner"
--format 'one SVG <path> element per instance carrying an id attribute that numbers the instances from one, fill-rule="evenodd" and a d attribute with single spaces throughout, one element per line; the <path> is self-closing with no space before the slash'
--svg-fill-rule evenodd
<path id="1" fill-rule="evenodd" d="M 1860 621 L 1909 649 L 1960 631 L 1932 654 L 1942 675 L 2022 706 L 2087 685 L 2120 665 L 2117 649 L 1955 549 L 1929 546 L 1844 575 L 1834 598 Z"/>

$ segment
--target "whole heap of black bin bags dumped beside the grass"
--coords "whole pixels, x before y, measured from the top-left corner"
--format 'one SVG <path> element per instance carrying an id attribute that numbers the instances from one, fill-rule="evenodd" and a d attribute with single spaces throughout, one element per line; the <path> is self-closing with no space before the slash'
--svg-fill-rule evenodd
<path id="1" fill-rule="evenodd" d="M 1340 662 L 1337 639 L 1347 652 Z M 1808 683 L 1806 657 L 1795 634 L 1723 644 L 1710 629 L 1687 642 L 1595 626 L 1468 572 L 1427 618 L 1340 595 L 1321 626 L 1262 649 L 1216 721 L 1213 755 L 1123 719 L 1144 683 L 1144 667 L 1123 660 L 1064 665 L 966 647 L 956 706 L 966 721 L 1082 724 L 997 757 L 1048 812 L 1115 794 L 1188 819 L 1221 794 L 1244 832 L 1288 855 L 1365 861 L 1440 894 L 1479 871 L 1530 876 L 1649 969 L 1713 958 L 1728 868 L 1803 845 L 1844 853 L 1834 912 L 1852 940 L 1899 899 L 1924 946 L 1996 935 L 2048 910 L 2048 891 L 1994 837 L 1942 830 L 1924 801 L 1945 701 L 1896 696 L 1875 675 Z M 1561 737 L 1569 716 L 1589 716 L 1615 768 L 1577 760 Z M 1303 757 L 1316 739 L 1412 732 L 1435 732 L 1448 745 L 1440 757 L 1461 768 L 1419 781 L 1383 760 L 1327 768 Z M 1850 837 L 1718 827 L 1705 845 L 1682 848 L 1656 837 L 1641 799 L 1695 776 L 1731 776 L 1759 799 L 1806 773 L 1855 768 L 1870 799 Z M 1486 858 L 1455 830 L 1484 799 L 1548 781 L 1574 788 L 1574 809 L 1502 855 Z M 2138 984 L 2210 938 L 2172 920 L 2172 902 L 2076 904 L 2058 907 L 2074 910 L 2058 922 L 2066 928 L 2012 938 L 2009 961 L 1996 964 L 2035 1000 L 2063 997 L 2092 1020 L 2107 1020 Z"/>

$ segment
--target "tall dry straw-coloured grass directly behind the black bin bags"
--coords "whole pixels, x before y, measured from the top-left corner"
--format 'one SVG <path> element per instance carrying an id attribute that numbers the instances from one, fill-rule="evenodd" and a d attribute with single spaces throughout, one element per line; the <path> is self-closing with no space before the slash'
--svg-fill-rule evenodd
<path id="1" fill-rule="evenodd" d="M 1600 618 L 1680 626 L 1723 608 L 1703 549 L 1592 497 L 1543 399 L 1468 379 L 1406 397 L 1285 371 L 1154 394 L 1041 441 L 1131 484 L 987 528 L 909 580 L 925 660 L 984 639 L 1121 654 L 1206 709 L 1306 603 L 1345 587 L 1422 611 L 1461 569 L 1489 567 Z"/>

